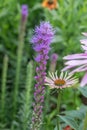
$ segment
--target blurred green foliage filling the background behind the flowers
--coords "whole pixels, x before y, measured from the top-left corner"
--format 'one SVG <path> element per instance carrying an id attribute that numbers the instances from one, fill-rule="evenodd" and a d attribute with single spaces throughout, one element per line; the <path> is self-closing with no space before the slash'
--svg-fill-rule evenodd
<path id="1" fill-rule="evenodd" d="M 87 32 L 87 0 L 58 0 L 58 8 L 50 10 L 41 6 L 42 0 L 0 0 L 0 84 L 2 82 L 2 69 L 4 56 L 8 56 L 8 72 L 6 83 L 6 105 L 5 117 L 2 120 L 0 117 L 0 130 L 10 130 L 11 124 L 15 126 L 16 130 L 22 130 L 22 118 L 24 104 L 24 91 L 26 83 L 26 67 L 29 61 L 34 61 L 35 53 L 32 49 L 31 38 L 33 29 L 39 25 L 41 21 L 50 21 L 56 30 L 55 38 L 53 40 L 52 49 L 49 56 L 53 53 L 58 54 L 58 61 L 56 69 L 59 71 L 64 67 L 63 56 L 82 52 L 80 46 L 80 39 L 83 38 L 82 32 Z M 17 116 L 12 121 L 11 104 L 12 91 L 14 86 L 18 35 L 21 19 L 21 5 L 27 4 L 29 8 L 28 21 L 26 25 L 25 45 L 22 57 L 22 67 L 19 86 L 18 110 Z M 50 68 L 50 59 L 47 65 L 47 72 Z M 35 69 L 35 63 L 34 63 Z M 76 74 L 79 81 L 83 73 Z M 33 79 L 34 84 L 34 79 Z M 76 87 L 78 87 L 77 85 Z M 33 100 L 33 85 L 31 91 L 31 98 Z M 0 85 L 1 95 L 1 85 Z M 56 130 L 55 113 L 56 113 L 56 96 L 55 91 L 47 91 L 47 97 L 50 98 L 50 103 L 45 104 L 47 110 L 44 111 L 43 130 Z M 76 89 L 63 90 L 61 111 L 78 109 L 82 104 L 87 104 L 87 100 Z M 21 112 L 20 112 L 21 111 Z M 20 116 L 20 113 L 21 116 Z M 32 113 L 32 107 L 31 107 Z M 49 118 L 48 118 L 49 117 Z M 29 118 L 27 118 L 29 120 Z M 47 122 L 47 124 L 46 124 Z M 28 125 L 27 125 L 28 126 Z M 11 128 L 12 129 L 12 128 Z M 12 129 L 13 130 L 13 129 Z M 24 129 L 23 129 L 24 130 Z M 27 129 L 25 129 L 27 130 Z"/>

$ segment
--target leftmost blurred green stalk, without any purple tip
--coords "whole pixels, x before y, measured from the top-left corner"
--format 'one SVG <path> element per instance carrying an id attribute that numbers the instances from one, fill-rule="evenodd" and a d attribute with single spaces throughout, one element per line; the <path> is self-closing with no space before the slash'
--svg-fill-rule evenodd
<path id="1" fill-rule="evenodd" d="M 2 85 L 1 85 L 1 114 L 2 120 L 5 116 L 5 104 L 6 104 L 6 79 L 8 70 L 8 56 L 5 55 L 3 59 L 3 71 L 2 71 Z"/>

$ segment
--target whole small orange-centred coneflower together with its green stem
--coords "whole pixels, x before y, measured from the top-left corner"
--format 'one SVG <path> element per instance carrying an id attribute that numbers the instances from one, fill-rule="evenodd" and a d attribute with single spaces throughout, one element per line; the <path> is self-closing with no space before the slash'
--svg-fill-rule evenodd
<path id="1" fill-rule="evenodd" d="M 58 100 L 57 100 L 57 114 L 60 113 L 60 102 L 61 102 L 61 90 L 67 87 L 71 87 L 78 82 L 78 79 L 73 77 L 72 74 L 61 72 L 58 77 L 57 71 L 55 73 L 49 73 L 49 77 L 45 79 L 45 85 L 48 85 L 50 89 L 58 89 Z M 57 117 L 57 130 L 60 130 L 59 117 Z"/>

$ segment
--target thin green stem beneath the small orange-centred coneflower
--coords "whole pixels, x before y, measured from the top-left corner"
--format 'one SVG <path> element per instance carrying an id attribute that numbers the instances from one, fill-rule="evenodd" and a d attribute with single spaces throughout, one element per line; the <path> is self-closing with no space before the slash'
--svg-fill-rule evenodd
<path id="1" fill-rule="evenodd" d="M 58 100 L 57 100 L 57 130 L 60 130 L 60 121 L 59 121 L 59 113 L 60 113 L 60 102 L 61 102 L 61 90 L 58 91 Z"/>

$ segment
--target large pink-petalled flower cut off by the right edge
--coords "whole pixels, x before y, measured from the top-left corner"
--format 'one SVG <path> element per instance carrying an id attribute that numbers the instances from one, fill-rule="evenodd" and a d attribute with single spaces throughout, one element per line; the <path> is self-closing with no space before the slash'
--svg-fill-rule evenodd
<path id="1" fill-rule="evenodd" d="M 83 35 L 87 36 L 87 33 L 83 33 Z M 67 62 L 65 62 L 66 67 L 63 69 L 63 71 L 66 71 L 67 69 L 73 69 L 71 73 L 85 71 L 86 74 L 81 82 L 81 87 L 83 87 L 87 84 L 87 39 L 81 40 L 81 46 L 85 51 L 84 53 L 73 54 L 64 57 Z"/>

